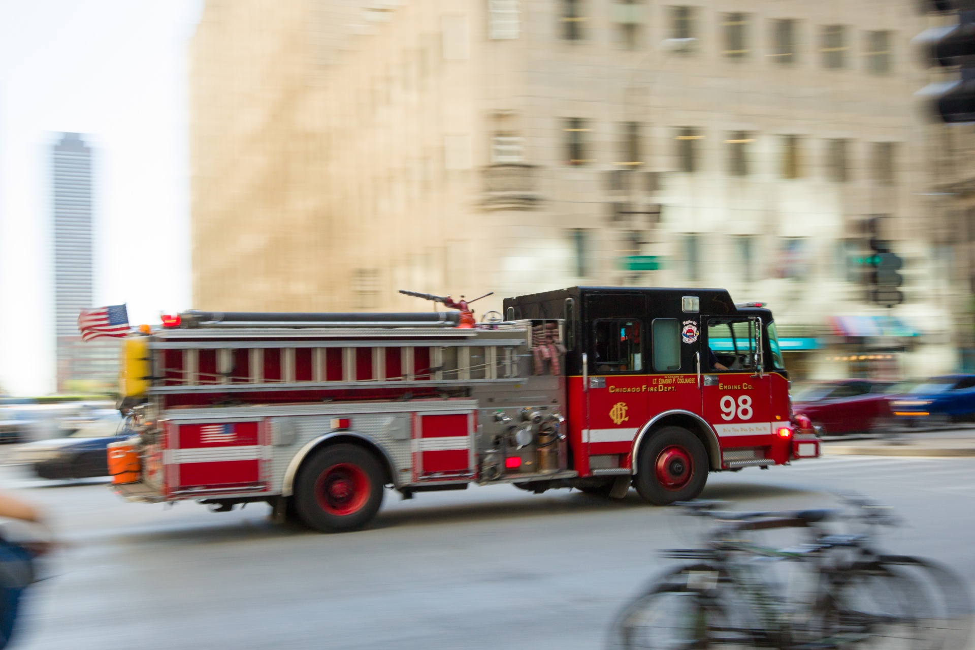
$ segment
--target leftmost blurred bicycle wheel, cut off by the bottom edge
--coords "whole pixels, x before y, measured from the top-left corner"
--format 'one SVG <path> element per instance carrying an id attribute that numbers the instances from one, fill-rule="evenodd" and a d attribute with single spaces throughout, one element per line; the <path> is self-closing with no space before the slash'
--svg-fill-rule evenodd
<path id="1" fill-rule="evenodd" d="M 735 606 L 733 589 L 718 572 L 681 570 L 631 601 L 612 628 L 620 650 L 755 647 L 749 617 Z M 740 602 L 740 599 L 739 599 Z"/>

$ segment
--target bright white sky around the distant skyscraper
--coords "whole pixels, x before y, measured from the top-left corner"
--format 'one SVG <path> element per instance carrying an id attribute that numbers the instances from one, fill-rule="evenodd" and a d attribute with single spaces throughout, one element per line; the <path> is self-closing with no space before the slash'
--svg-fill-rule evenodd
<path id="1" fill-rule="evenodd" d="M 0 387 L 54 391 L 50 145 L 95 148 L 95 304 L 190 305 L 186 47 L 203 0 L 0 0 Z"/>

